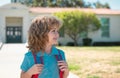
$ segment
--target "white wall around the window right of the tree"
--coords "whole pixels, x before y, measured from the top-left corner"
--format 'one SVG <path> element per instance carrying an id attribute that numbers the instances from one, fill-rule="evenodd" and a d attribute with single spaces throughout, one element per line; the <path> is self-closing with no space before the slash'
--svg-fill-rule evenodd
<path id="1" fill-rule="evenodd" d="M 105 38 L 101 36 L 101 30 L 89 33 L 89 37 L 93 39 L 93 41 L 120 41 L 120 15 L 98 15 L 98 18 L 106 17 L 110 19 L 110 37 Z"/>

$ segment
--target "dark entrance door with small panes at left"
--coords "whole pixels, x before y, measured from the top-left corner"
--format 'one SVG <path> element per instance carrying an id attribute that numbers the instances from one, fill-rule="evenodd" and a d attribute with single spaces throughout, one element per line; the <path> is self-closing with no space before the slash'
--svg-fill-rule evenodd
<path id="1" fill-rule="evenodd" d="M 22 27 L 6 27 L 6 42 L 21 43 L 22 42 Z"/>

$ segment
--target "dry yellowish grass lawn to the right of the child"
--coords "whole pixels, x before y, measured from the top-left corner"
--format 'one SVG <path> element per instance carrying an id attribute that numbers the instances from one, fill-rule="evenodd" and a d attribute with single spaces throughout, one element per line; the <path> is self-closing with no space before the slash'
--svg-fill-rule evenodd
<path id="1" fill-rule="evenodd" d="M 58 47 L 80 78 L 120 78 L 120 47 Z"/>

